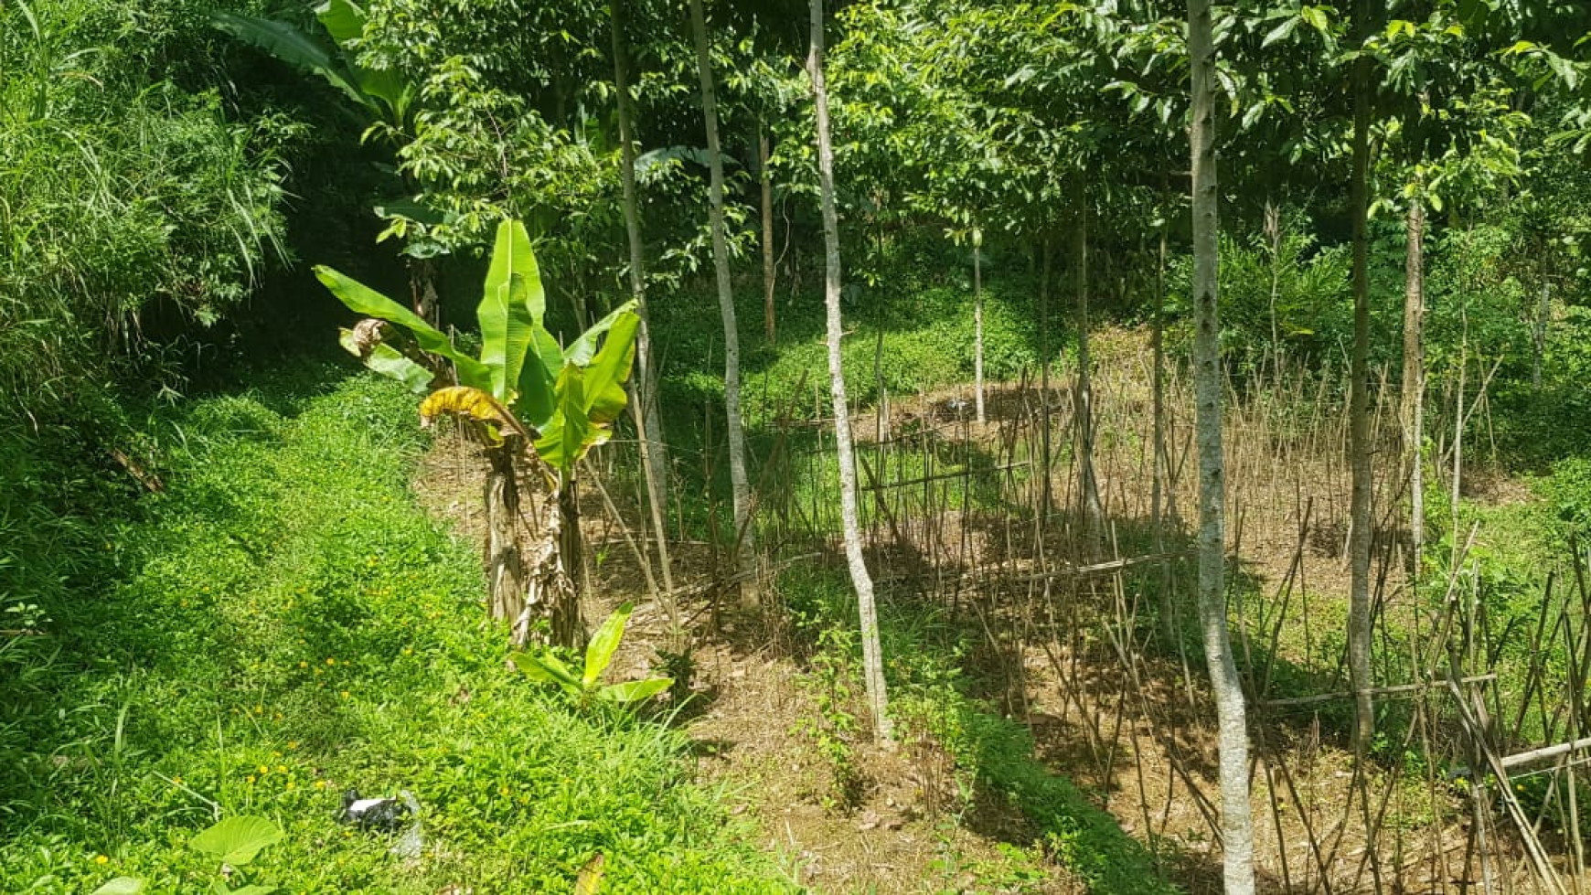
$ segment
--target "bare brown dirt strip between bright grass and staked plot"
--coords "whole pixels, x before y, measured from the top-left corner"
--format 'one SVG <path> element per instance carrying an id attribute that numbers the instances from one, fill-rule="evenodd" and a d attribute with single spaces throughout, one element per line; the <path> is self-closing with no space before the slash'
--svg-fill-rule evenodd
<path id="1" fill-rule="evenodd" d="M 438 518 L 461 537 L 484 534 L 482 464 L 477 448 L 457 434 L 439 434 L 420 463 L 414 490 Z M 600 618 L 619 602 L 635 601 L 624 645 L 614 660 L 614 676 L 638 677 L 657 664 L 657 649 L 668 644 L 668 620 L 648 598 L 632 548 L 614 533 L 600 496 L 582 494 L 587 544 L 609 550 L 592 569 L 593 596 L 587 618 Z M 678 568 L 705 568 L 705 558 L 679 555 Z M 679 612 L 694 631 L 695 680 L 700 701 L 681 715 L 695 741 L 698 779 L 722 785 L 732 814 L 749 814 L 760 830 L 762 846 L 788 866 L 802 884 L 827 893 L 1036 893 L 1080 895 L 1083 885 L 1044 862 L 1045 879 L 1001 887 L 998 879 L 1012 860 L 1002 839 L 974 833 L 955 823 L 940 808 L 945 784 L 936 757 L 907 757 L 901 750 L 854 742 L 861 787 L 853 804 L 834 803 L 832 766 L 799 730 L 816 717 L 811 696 L 802 688 L 802 669 L 778 649 L 778 633 L 765 634 L 719 617 L 719 606 L 705 588 L 684 582 L 695 593 Z M 770 645 L 775 644 L 775 645 Z M 951 787 L 953 788 L 953 787 Z M 1031 843 L 1020 812 L 980 819 L 983 830 L 1009 830 L 1006 839 Z"/>

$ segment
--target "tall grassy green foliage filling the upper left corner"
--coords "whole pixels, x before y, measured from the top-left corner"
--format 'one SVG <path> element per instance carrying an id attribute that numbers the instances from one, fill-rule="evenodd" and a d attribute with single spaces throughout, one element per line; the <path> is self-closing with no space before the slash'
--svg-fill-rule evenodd
<path id="1" fill-rule="evenodd" d="M 239 121 L 193 86 L 218 64 L 194 6 L 0 8 L 0 401 L 13 407 L 53 413 L 156 355 L 162 320 L 218 323 L 285 253 L 280 149 L 299 129 Z M 119 38 L 130 22 L 138 38 Z"/>

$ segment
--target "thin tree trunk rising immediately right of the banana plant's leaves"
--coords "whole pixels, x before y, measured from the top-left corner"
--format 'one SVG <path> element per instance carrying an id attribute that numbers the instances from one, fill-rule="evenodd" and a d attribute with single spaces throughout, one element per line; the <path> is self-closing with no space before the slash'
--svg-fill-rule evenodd
<path id="1" fill-rule="evenodd" d="M 611 0 L 608 6 L 613 21 L 613 75 L 619 91 L 619 141 L 622 143 L 622 180 L 624 180 L 624 231 L 630 242 L 630 297 L 635 299 L 641 326 L 636 332 L 635 359 L 640 367 L 636 377 L 640 386 L 633 386 L 635 401 L 630 402 L 630 415 L 635 420 L 636 445 L 641 451 L 641 475 L 646 478 L 646 504 L 652 517 L 652 533 L 657 536 L 657 563 L 663 571 L 663 609 L 673 628 L 671 636 L 681 636 L 679 609 L 675 601 L 675 572 L 668 558 L 668 474 L 663 458 L 662 423 L 657 413 L 657 388 L 652 370 L 652 340 L 648 327 L 646 308 L 646 270 L 641 245 L 641 213 L 635 189 L 635 141 L 630 134 L 630 84 L 628 67 L 625 64 L 624 46 L 624 0 Z M 678 645 L 678 644 L 676 644 Z"/>

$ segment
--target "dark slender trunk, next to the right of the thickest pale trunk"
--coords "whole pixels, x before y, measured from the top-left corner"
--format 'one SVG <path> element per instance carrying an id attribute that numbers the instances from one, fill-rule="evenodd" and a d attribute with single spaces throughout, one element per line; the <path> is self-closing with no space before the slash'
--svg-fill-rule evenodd
<path id="1" fill-rule="evenodd" d="M 1363 32 L 1370 5 L 1359 2 L 1357 29 Z M 1354 169 L 1349 184 L 1354 215 L 1354 353 L 1349 370 L 1349 464 L 1352 498 L 1348 593 L 1348 676 L 1354 688 L 1356 742 L 1368 747 L 1375 736 L 1375 699 L 1370 693 L 1370 59 L 1354 62 Z"/>

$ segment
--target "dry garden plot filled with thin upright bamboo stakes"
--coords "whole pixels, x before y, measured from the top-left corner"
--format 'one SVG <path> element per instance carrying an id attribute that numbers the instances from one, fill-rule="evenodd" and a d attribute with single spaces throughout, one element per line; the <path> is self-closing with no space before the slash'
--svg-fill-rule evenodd
<path id="1" fill-rule="evenodd" d="M 1196 639 L 1177 634 L 1195 623 L 1184 523 L 1196 510 L 1192 386 L 1169 370 L 1157 421 L 1149 359 L 1107 361 L 1093 404 L 1103 517 L 1079 510 L 1064 378 L 993 388 L 985 424 L 966 391 L 901 397 L 880 386 L 875 405 L 853 410 L 869 561 L 886 601 L 928 604 L 977 633 L 996 657 L 982 671 L 1004 677 L 1006 707 L 1042 731 L 1041 746 L 1058 738 L 1087 757 L 1058 771 L 1091 781 L 1192 890 L 1217 890 L 1212 707 L 1203 663 L 1188 657 Z M 1591 892 L 1577 788 L 1591 755 L 1586 556 L 1566 558 L 1572 572 L 1554 572 L 1529 618 L 1499 617 L 1486 599 L 1473 528 L 1449 533 L 1445 563 L 1427 548 L 1432 580 L 1413 587 L 1406 475 L 1391 459 L 1395 388 L 1378 378 L 1373 580 L 1386 720 L 1363 758 L 1344 726 L 1343 370 L 1268 370 L 1228 393 L 1230 601 L 1262 890 Z M 757 526 L 773 561 L 810 558 L 838 537 L 824 483 L 832 428 L 813 397 L 807 415 L 775 409 L 775 444 L 760 458 Z M 1484 444 L 1486 394 L 1449 388 L 1433 402 L 1446 407 L 1432 467 L 1454 488 L 1462 437 L 1481 432 Z M 1505 647 L 1529 660 L 1502 661 Z M 1548 784 L 1526 804 L 1531 777 Z"/>

